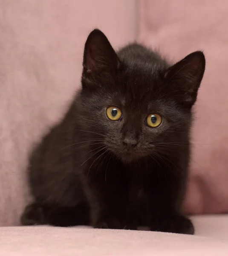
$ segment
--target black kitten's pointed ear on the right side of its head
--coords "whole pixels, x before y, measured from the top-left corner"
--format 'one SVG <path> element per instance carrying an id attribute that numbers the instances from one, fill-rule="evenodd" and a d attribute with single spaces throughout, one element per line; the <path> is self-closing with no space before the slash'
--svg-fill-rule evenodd
<path id="1" fill-rule="evenodd" d="M 180 103 L 191 107 L 196 102 L 204 71 L 205 56 L 201 51 L 190 53 L 167 70 L 167 83 Z"/>

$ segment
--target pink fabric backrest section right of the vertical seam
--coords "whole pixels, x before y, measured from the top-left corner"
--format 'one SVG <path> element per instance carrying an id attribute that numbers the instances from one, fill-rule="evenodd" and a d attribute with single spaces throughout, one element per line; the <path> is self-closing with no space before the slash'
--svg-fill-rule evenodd
<path id="1" fill-rule="evenodd" d="M 139 41 L 172 61 L 203 50 L 186 211 L 228 212 L 228 2 L 140 0 Z"/>

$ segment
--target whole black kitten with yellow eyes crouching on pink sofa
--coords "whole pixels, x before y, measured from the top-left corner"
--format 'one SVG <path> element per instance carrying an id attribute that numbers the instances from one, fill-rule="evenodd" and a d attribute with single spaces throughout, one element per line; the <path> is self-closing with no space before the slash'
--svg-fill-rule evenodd
<path id="1" fill-rule="evenodd" d="M 138 44 L 115 52 L 95 29 L 84 49 L 82 88 L 32 154 L 35 203 L 22 224 L 193 234 L 182 215 L 191 108 L 202 52 L 170 66 Z"/>

